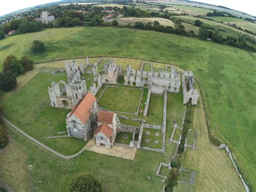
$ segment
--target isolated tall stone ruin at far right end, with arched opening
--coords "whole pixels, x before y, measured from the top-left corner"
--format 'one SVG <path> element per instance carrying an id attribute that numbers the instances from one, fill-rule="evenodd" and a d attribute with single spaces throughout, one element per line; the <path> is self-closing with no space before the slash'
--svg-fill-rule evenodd
<path id="1" fill-rule="evenodd" d="M 187 81 L 187 84 L 186 84 Z M 192 71 L 185 71 L 182 76 L 183 104 L 191 99 L 192 105 L 197 105 L 199 93 L 194 89 L 194 75 Z"/>

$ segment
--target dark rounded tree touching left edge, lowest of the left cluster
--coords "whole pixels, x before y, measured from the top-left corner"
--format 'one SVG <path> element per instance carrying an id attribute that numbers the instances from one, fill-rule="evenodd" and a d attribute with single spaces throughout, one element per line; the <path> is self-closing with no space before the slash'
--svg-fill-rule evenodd
<path id="1" fill-rule="evenodd" d="M 3 91 L 11 91 L 17 85 L 15 74 L 11 71 L 6 71 L 0 74 L 0 87 Z"/>

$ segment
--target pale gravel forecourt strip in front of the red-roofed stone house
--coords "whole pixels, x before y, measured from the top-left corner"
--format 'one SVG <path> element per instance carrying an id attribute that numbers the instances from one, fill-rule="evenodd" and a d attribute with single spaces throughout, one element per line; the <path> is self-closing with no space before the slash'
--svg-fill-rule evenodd
<path id="1" fill-rule="evenodd" d="M 105 146 L 97 147 L 95 139 L 89 141 L 86 144 L 85 149 L 91 150 L 92 152 L 96 152 L 96 153 L 116 156 L 116 157 L 130 159 L 130 160 L 134 159 L 134 156 L 137 150 L 137 148 L 123 147 L 123 146 L 117 146 L 117 145 L 114 145 L 111 149 L 106 149 Z"/>

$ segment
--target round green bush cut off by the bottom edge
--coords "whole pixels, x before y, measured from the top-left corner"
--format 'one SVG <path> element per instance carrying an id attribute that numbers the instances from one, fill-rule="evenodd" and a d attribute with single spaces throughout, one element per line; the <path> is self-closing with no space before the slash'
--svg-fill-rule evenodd
<path id="1" fill-rule="evenodd" d="M 69 191 L 102 191 L 102 183 L 94 179 L 91 174 L 81 174 L 71 179 Z"/>

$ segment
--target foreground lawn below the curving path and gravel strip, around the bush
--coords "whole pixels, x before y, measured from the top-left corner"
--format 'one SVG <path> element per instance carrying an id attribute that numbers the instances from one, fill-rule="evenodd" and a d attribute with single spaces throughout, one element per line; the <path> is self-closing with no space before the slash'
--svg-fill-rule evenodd
<path id="1" fill-rule="evenodd" d="M 31 81 L 33 81 L 33 79 Z M 31 81 L 29 81 L 29 83 Z M 22 89 L 23 87 L 21 90 Z M 13 95 L 16 94 L 17 93 Z M 168 109 L 169 107 L 170 106 L 167 106 Z M 170 110 L 171 109 L 169 109 L 169 111 Z M 163 187 L 161 177 L 156 176 L 159 162 L 170 161 L 175 149 L 175 145 L 166 142 L 165 154 L 138 150 L 133 161 L 97 154 L 86 150 L 75 159 L 63 160 L 50 152 L 45 151 L 43 148 L 24 138 L 16 131 L 13 131 L 12 129 L 9 130 L 12 135 L 15 135 L 15 140 L 22 143 L 22 145 L 16 146 L 16 150 L 24 148 L 22 155 L 27 157 L 24 159 L 23 167 L 15 169 L 15 172 L 11 169 L 6 170 L 5 172 L 7 174 L 9 171 L 10 175 L 17 174 L 18 172 L 18 176 L 21 176 L 22 172 L 24 172 L 23 177 L 25 175 L 31 175 L 31 183 L 23 181 L 25 178 L 20 178 L 17 180 L 17 183 L 12 183 L 10 177 L 5 177 L 5 180 L 7 180 L 6 184 L 10 187 L 18 187 L 20 182 L 24 182 L 24 190 L 31 184 L 32 188 L 36 188 L 37 190 L 64 191 L 68 186 L 70 177 L 78 173 L 91 173 L 98 180 L 102 181 L 104 191 L 159 191 Z M 1 158 L 7 158 L 9 150 L 10 147 L 8 146 L 6 150 L 0 151 L 2 152 Z M 95 161 L 95 159 L 97 159 L 97 161 Z M 7 162 L 5 162 L 5 165 L 6 164 Z M 32 167 L 28 168 L 30 164 Z M 3 163 L 0 163 L 0 166 L 2 165 L 4 166 Z M 8 164 L 8 166 L 10 165 Z M 2 167 L 0 168 L 2 170 Z M 100 173 L 105 174 L 101 175 Z M 151 177 L 150 181 L 147 180 L 147 176 Z M 127 181 L 129 181 L 129 184 L 127 184 Z M 25 186 L 25 184 L 27 185 Z M 20 186 L 20 188 L 21 187 L 22 186 Z"/>

